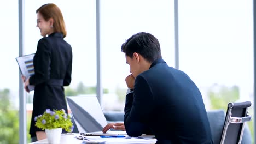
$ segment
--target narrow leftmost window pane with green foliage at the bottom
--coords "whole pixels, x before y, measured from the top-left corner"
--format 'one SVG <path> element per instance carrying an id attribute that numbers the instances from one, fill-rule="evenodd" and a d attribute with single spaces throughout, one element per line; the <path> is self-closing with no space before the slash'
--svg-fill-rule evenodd
<path id="1" fill-rule="evenodd" d="M 18 1 L 0 4 L 0 143 L 19 143 Z"/>

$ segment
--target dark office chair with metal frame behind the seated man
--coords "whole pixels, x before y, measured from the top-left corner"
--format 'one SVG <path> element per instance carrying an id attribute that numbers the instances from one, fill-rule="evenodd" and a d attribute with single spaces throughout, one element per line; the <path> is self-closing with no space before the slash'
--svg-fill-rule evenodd
<path id="1" fill-rule="evenodd" d="M 241 143 L 245 122 L 252 120 L 252 116 L 249 116 L 247 111 L 250 106 L 250 101 L 228 104 L 221 144 Z"/>

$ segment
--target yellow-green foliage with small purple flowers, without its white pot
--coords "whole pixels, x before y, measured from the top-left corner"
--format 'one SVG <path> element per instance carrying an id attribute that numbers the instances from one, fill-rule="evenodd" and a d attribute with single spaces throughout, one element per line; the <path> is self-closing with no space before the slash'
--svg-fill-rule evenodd
<path id="1" fill-rule="evenodd" d="M 73 131 L 73 123 L 71 122 L 71 115 L 67 115 L 65 110 L 46 109 L 43 115 L 34 118 L 36 126 L 41 129 L 55 129 L 62 128 L 67 132 Z"/>

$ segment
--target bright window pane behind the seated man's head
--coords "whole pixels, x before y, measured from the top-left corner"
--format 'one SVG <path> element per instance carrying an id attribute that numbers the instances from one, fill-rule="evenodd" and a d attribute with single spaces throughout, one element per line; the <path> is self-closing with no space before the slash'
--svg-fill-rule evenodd
<path id="1" fill-rule="evenodd" d="M 124 109 L 129 65 L 121 44 L 138 32 L 149 32 L 158 38 L 161 53 L 168 65 L 174 66 L 174 2 L 165 1 L 100 1 L 103 109 Z M 145 4 L 147 3 L 147 4 Z"/>

